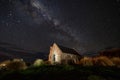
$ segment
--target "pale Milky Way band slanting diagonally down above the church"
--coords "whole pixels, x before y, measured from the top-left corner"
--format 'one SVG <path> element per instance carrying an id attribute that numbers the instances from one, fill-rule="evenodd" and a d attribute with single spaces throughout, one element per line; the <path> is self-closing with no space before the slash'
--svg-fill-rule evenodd
<path id="1" fill-rule="evenodd" d="M 70 28 L 69 25 L 62 24 L 60 21 L 56 18 L 53 18 L 51 15 L 49 15 L 49 11 L 44 7 L 44 5 L 38 1 L 38 0 L 31 0 L 30 1 L 31 6 L 37 8 L 38 10 L 38 15 L 42 14 L 43 19 L 47 21 L 52 27 L 52 29 L 55 29 L 57 33 L 51 34 L 50 37 L 55 37 L 58 40 L 61 41 L 71 41 L 75 42 L 76 46 L 80 46 L 80 39 L 77 36 L 77 30 L 76 32 L 74 29 Z M 29 5 L 30 6 L 30 5 Z M 35 13 L 34 13 L 35 14 Z"/>

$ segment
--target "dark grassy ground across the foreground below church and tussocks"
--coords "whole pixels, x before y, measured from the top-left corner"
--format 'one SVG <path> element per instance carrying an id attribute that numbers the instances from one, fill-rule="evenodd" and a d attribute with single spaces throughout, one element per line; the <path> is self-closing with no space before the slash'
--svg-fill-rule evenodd
<path id="1" fill-rule="evenodd" d="M 0 80 L 120 80 L 120 68 L 47 65 L 22 71 L 2 70 Z"/>

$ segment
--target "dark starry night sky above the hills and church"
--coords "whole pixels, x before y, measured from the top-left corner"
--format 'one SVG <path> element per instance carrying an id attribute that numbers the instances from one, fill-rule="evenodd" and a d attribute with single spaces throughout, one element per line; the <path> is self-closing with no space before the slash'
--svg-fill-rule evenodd
<path id="1" fill-rule="evenodd" d="M 0 0 L 0 42 L 48 52 L 120 47 L 120 0 Z"/>

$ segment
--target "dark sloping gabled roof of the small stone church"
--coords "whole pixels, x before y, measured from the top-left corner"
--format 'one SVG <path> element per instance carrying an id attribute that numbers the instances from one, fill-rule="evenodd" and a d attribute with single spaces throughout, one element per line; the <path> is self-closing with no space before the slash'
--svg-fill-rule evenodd
<path id="1" fill-rule="evenodd" d="M 61 45 L 57 45 L 61 50 L 62 52 L 64 53 L 68 53 L 68 54 L 74 54 L 74 55 L 78 55 L 78 56 L 81 56 L 76 50 L 74 49 L 71 49 L 71 48 L 67 48 L 67 47 L 63 47 Z"/>

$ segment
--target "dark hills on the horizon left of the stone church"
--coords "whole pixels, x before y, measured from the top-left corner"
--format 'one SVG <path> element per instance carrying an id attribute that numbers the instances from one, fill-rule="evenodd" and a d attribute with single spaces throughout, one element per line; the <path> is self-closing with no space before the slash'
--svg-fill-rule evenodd
<path id="1" fill-rule="evenodd" d="M 37 58 L 47 59 L 47 53 L 24 50 L 9 43 L 0 42 L 0 61 L 23 58 L 26 62 L 33 62 Z"/>

